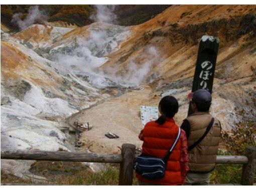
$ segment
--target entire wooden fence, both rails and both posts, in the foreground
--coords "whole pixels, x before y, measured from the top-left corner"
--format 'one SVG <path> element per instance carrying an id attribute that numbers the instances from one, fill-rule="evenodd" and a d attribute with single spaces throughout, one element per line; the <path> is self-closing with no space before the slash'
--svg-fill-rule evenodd
<path id="1" fill-rule="evenodd" d="M 134 161 L 136 158 L 134 144 L 122 144 L 121 154 L 66 151 L 1 152 L 1 159 L 29 159 L 51 161 L 83 161 L 120 163 L 119 185 L 132 185 Z M 243 164 L 241 185 L 253 185 L 256 171 L 256 147 L 247 147 L 245 155 L 218 155 L 216 163 Z"/>

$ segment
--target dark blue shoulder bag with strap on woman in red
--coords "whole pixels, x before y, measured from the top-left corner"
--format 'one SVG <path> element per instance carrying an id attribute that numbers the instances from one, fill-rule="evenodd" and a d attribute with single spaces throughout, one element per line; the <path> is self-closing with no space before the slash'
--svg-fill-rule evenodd
<path id="1" fill-rule="evenodd" d="M 174 140 L 170 149 L 166 152 L 166 156 L 163 158 L 139 155 L 136 159 L 135 170 L 142 174 L 142 176 L 148 179 L 160 179 L 165 176 L 165 168 L 167 160 L 171 155 L 175 145 L 177 144 L 181 135 L 181 128 L 179 127 L 178 135 Z"/>

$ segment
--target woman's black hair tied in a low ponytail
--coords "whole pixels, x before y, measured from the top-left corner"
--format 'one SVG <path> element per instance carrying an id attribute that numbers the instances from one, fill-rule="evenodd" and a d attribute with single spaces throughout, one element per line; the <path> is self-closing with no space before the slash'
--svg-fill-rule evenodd
<path id="1" fill-rule="evenodd" d="M 172 95 L 164 96 L 159 102 L 158 109 L 162 112 L 162 115 L 156 120 L 156 122 L 164 124 L 166 117 L 172 118 L 178 112 L 178 100 Z"/>

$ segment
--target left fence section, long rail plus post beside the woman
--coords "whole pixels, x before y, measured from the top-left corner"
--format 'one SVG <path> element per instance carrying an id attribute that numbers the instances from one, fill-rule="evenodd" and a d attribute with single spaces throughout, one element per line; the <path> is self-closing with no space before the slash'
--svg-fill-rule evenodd
<path id="1" fill-rule="evenodd" d="M 1 159 L 120 163 L 118 184 L 132 185 L 135 149 L 134 144 L 124 143 L 122 144 L 121 154 L 68 151 L 5 151 L 1 152 Z"/>

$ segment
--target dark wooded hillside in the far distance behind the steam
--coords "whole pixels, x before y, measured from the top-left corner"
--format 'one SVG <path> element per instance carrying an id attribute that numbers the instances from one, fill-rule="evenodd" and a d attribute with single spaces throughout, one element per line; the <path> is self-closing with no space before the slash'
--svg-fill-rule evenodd
<path id="1" fill-rule="evenodd" d="M 21 12 L 21 19 L 28 15 L 29 8 L 33 5 L 25 4 L 3 4 L 1 5 L 1 22 L 6 26 L 18 30 L 18 26 L 11 22 L 15 13 Z M 143 23 L 170 5 L 115 5 L 113 13 L 116 14 L 115 24 L 118 25 L 136 25 Z M 83 26 L 93 22 L 90 16 L 96 13 L 94 5 L 88 4 L 57 4 L 40 5 L 39 9 L 47 15 L 47 21 L 64 21 L 68 24 Z M 39 21 L 35 23 L 40 23 Z M 56 23 L 58 24 L 58 23 Z"/>

